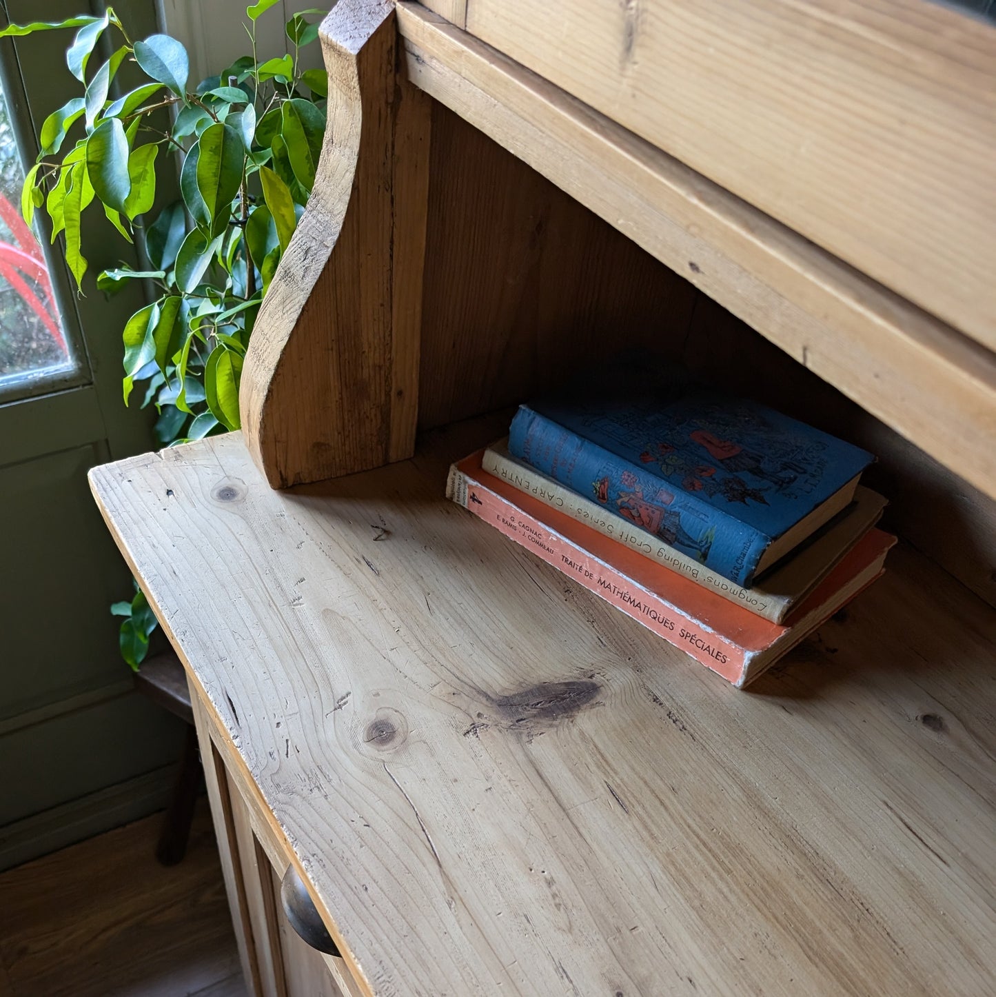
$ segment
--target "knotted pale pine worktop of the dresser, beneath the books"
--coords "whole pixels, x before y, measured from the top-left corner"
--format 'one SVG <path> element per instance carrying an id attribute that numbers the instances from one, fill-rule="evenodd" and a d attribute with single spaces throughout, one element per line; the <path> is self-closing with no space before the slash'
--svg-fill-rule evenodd
<path id="1" fill-rule="evenodd" d="M 996 988 L 996 614 L 900 549 L 737 692 L 442 498 L 497 431 L 288 494 L 238 434 L 92 474 L 365 988 Z"/>

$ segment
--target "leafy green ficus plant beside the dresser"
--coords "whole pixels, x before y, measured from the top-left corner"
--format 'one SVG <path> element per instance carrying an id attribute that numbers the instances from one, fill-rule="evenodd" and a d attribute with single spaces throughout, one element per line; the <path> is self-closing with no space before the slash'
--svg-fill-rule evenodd
<path id="1" fill-rule="evenodd" d="M 164 445 L 238 428 L 252 326 L 315 181 L 328 78 L 301 70 L 299 55 L 318 37 L 308 18 L 328 8 L 287 22 L 293 54 L 259 60 L 256 19 L 277 2 L 246 9 L 252 54 L 192 89 L 183 46 L 161 34 L 133 39 L 110 7 L 102 16 L 0 31 L 75 29 L 66 62 L 82 94 L 42 125 L 21 208 L 29 224 L 35 210 L 48 214 L 80 293 L 88 271 L 84 211 L 103 209 L 120 236 L 138 244 L 148 268 L 105 270 L 97 286 L 113 294 L 137 280 L 155 289 L 125 326 L 123 385 L 126 405 L 139 386 L 141 405 L 155 405 Z M 95 57 L 99 46 L 112 53 L 106 61 Z M 126 65 L 142 82 L 120 93 L 116 78 Z M 175 183 L 177 158 L 181 198 L 155 210 L 157 181 L 167 170 Z M 138 590 L 112 611 L 124 617 L 122 655 L 138 668 L 156 618 Z"/>

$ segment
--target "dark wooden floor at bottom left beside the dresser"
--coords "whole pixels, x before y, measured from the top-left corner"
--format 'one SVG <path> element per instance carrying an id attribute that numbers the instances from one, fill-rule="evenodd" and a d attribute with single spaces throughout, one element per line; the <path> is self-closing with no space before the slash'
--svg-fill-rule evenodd
<path id="1" fill-rule="evenodd" d="M 171 868 L 159 823 L 0 874 L 0 997 L 245 997 L 206 802 Z"/>

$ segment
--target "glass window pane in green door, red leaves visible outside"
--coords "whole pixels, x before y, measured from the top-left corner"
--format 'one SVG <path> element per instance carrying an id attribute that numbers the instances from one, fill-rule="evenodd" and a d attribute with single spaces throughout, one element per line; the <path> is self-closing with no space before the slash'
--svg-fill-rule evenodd
<path id="1" fill-rule="evenodd" d="M 0 388 L 75 369 L 49 261 L 21 217 L 24 167 L 0 91 Z"/>

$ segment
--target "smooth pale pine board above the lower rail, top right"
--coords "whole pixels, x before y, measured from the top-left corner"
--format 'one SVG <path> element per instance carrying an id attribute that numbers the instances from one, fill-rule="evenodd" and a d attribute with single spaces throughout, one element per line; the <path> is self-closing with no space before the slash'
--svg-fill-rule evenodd
<path id="1" fill-rule="evenodd" d="M 471 0 L 467 28 L 996 348 L 996 27 L 927 0 Z"/>

